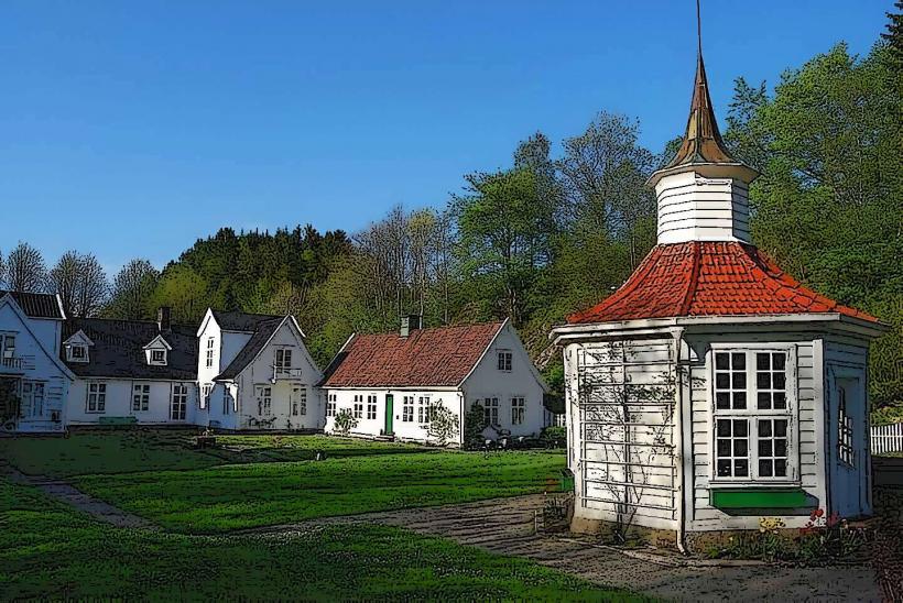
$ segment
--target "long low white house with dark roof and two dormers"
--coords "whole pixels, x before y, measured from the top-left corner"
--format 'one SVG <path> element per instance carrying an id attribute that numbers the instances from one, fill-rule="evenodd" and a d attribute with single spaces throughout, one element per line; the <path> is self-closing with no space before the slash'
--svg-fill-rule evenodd
<path id="1" fill-rule="evenodd" d="M 76 375 L 68 426 L 194 425 L 197 338 L 157 320 L 73 318 L 65 322 L 62 359 Z"/>

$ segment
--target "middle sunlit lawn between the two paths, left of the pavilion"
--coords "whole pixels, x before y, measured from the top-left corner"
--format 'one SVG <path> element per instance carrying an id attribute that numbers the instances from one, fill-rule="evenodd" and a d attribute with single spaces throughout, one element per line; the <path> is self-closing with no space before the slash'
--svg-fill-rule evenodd
<path id="1" fill-rule="evenodd" d="M 542 492 L 563 452 L 433 451 L 83 475 L 76 486 L 170 529 L 238 528 Z"/>

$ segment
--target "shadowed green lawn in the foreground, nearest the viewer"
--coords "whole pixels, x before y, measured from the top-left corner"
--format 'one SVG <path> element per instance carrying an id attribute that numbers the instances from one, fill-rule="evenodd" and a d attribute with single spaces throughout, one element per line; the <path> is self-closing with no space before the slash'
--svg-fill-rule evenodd
<path id="1" fill-rule="evenodd" d="M 523 559 L 377 526 L 281 538 L 116 529 L 0 479 L 0 600 L 639 601 Z"/>

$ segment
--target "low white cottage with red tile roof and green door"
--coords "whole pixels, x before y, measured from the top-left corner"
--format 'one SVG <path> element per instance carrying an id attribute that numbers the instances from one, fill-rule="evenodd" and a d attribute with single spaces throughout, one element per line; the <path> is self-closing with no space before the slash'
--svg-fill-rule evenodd
<path id="1" fill-rule="evenodd" d="M 357 420 L 352 435 L 434 441 L 431 408 L 459 421 L 483 407 L 488 435 L 538 435 L 547 387 L 509 321 L 421 329 L 405 319 L 398 333 L 352 335 L 326 370 L 327 432 L 338 413 Z"/>

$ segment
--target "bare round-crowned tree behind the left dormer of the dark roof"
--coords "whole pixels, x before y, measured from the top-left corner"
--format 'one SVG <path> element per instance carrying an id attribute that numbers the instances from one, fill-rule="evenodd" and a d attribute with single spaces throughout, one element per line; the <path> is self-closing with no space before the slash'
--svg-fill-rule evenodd
<path id="1" fill-rule="evenodd" d="M 107 275 L 90 253 L 64 253 L 50 271 L 50 289 L 59 295 L 66 316 L 96 316 L 104 307 L 109 284 Z"/>

